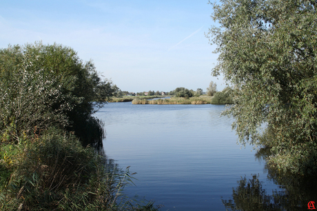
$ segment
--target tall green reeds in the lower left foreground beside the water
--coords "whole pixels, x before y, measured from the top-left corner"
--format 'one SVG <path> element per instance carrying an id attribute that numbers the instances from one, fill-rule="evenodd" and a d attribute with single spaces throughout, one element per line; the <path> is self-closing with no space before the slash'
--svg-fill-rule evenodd
<path id="1" fill-rule="evenodd" d="M 57 130 L 21 146 L 22 156 L 1 186 L 0 210 L 157 210 L 152 202 L 129 199 L 129 168 L 83 148 Z M 3 165 L 3 168 L 12 168 Z"/>

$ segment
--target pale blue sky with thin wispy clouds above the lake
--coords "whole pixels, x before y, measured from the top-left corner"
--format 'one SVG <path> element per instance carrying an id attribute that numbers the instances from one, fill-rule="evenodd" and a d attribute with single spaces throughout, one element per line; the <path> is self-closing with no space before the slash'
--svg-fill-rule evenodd
<path id="1" fill-rule="evenodd" d="M 177 87 L 218 90 L 212 77 L 215 46 L 205 32 L 214 25 L 207 0 L 0 2 L 0 48 L 42 41 L 60 43 L 92 59 L 96 70 L 130 92 Z"/>

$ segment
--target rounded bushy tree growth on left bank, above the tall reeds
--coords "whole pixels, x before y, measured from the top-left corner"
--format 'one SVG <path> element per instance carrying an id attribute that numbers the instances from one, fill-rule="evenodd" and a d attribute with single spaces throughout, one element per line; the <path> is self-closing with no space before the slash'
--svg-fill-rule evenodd
<path id="1" fill-rule="evenodd" d="M 102 145 L 101 122 L 92 114 L 103 102 L 93 101 L 111 83 L 101 82 L 92 61 L 83 63 L 72 48 L 34 43 L 1 49 L 0 79 L 2 133 L 17 139 L 54 125 L 73 131 L 83 145 Z"/>

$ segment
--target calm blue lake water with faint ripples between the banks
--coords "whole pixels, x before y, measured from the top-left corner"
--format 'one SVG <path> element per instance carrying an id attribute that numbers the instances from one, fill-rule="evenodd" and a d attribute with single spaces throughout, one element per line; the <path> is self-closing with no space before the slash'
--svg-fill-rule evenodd
<path id="1" fill-rule="evenodd" d="M 161 210 L 225 210 L 241 177 L 259 174 L 267 192 L 265 162 L 236 144 L 232 119 L 218 105 L 108 103 L 96 112 L 105 122 L 105 154 L 130 167 L 136 186 L 126 191 L 153 199 Z M 252 151 L 251 151 L 252 150 Z"/>

